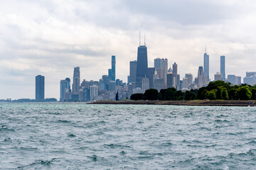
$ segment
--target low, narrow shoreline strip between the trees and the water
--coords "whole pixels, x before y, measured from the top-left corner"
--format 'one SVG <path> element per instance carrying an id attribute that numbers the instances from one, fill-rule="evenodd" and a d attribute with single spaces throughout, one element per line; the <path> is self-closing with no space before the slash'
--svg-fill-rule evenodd
<path id="1" fill-rule="evenodd" d="M 176 105 L 176 106 L 256 106 L 256 101 L 92 101 L 88 104 Z"/>

